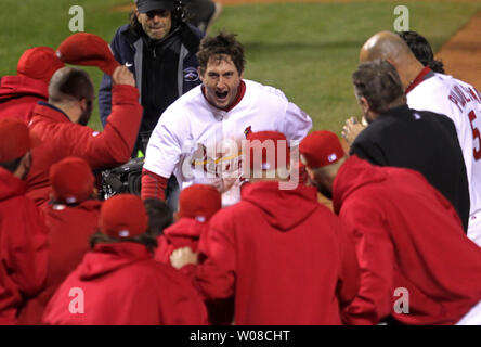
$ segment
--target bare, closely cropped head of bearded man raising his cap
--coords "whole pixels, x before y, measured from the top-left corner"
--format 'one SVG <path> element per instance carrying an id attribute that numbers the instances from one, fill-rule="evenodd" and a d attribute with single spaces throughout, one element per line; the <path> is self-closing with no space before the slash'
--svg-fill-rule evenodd
<path id="1" fill-rule="evenodd" d="M 92 79 L 82 69 L 63 67 L 53 74 L 49 85 L 49 103 L 67 104 L 95 98 Z"/>

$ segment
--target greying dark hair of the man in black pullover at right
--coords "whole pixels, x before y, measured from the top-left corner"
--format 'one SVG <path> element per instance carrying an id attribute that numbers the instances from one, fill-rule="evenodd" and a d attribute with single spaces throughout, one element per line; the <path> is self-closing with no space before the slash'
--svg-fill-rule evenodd
<path id="1" fill-rule="evenodd" d="M 382 113 L 404 97 L 404 89 L 396 69 L 388 61 L 375 60 L 358 66 L 352 74 L 358 99 L 366 98 L 369 106 Z"/>

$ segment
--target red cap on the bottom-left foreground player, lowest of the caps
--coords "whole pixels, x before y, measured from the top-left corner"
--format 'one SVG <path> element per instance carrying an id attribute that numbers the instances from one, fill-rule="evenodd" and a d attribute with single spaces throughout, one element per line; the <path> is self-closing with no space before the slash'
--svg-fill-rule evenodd
<path id="1" fill-rule="evenodd" d="M 102 233 L 115 239 L 143 234 L 148 228 L 144 203 L 136 195 L 114 195 L 102 204 L 99 228 Z"/>

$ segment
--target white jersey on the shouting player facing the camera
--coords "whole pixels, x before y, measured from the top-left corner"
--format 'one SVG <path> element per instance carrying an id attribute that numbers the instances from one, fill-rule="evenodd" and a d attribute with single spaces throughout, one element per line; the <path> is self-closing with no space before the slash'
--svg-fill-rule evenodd
<path id="1" fill-rule="evenodd" d="M 233 187 L 222 204 L 240 198 L 242 144 L 250 131 L 280 131 L 289 143 L 303 139 L 311 118 L 273 87 L 244 79 L 246 91 L 230 111 L 212 106 L 198 86 L 161 115 L 148 141 L 144 168 L 161 177 L 173 172 L 182 189 L 194 184 Z M 223 180 L 225 175 L 233 178 Z M 220 182 L 220 183 L 219 183 Z"/>

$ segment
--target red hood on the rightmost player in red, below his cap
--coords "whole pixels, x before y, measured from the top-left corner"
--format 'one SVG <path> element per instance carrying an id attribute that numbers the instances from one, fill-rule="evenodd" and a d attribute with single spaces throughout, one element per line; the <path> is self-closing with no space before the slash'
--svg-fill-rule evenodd
<path id="1" fill-rule="evenodd" d="M 387 174 L 381 167 L 370 165 L 355 155 L 349 157 L 337 172 L 333 183 L 334 211 L 339 215 L 346 198 L 361 187 L 385 181 L 386 178 Z"/>

